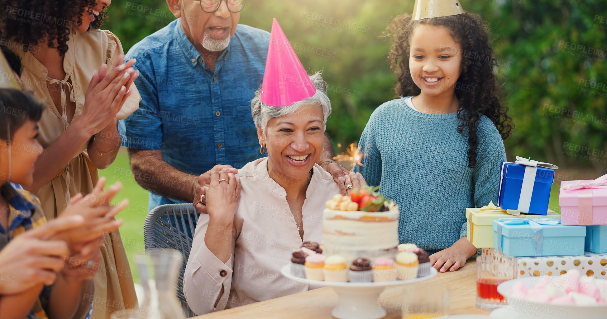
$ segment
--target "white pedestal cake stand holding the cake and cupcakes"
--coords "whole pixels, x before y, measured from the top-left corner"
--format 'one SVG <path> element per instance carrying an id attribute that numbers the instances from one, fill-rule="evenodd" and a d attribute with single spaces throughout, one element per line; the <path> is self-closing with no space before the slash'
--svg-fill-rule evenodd
<path id="1" fill-rule="evenodd" d="M 384 283 L 336 283 L 334 281 L 308 280 L 291 275 L 291 265 L 287 264 L 280 269 L 285 277 L 310 286 L 328 286 L 337 292 L 339 301 L 331 311 L 331 315 L 337 319 L 379 319 L 385 317 L 385 310 L 378 304 L 379 294 L 386 287 L 404 286 L 432 278 L 436 275 L 436 269 L 430 268 L 430 275 L 419 277 L 415 280 L 396 280 Z"/>

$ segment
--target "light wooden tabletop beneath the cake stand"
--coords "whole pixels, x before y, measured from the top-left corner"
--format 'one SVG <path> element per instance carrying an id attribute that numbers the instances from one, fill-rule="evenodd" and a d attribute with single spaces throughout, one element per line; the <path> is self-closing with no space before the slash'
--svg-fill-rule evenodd
<path id="1" fill-rule="evenodd" d="M 476 263 L 470 258 L 466 265 L 454 272 L 438 273 L 427 283 L 444 284 L 450 289 L 450 315 L 456 314 L 489 314 L 490 311 L 476 307 Z M 407 286 L 405 286 L 407 287 Z M 388 315 L 385 319 L 400 319 L 402 303 L 400 298 L 403 287 L 386 289 L 379 296 L 379 301 Z M 337 304 L 337 294 L 330 287 L 300 292 L 299 294 L 274 298 L 259 303 L 247 304 L 211 314 L 195 317 L 211 318 L 247 318 L 247 319 L 282 319 L 282 318 L 333 318 L 331 311 Z M 391 307 L 392 306 L 392 307 Z"/>

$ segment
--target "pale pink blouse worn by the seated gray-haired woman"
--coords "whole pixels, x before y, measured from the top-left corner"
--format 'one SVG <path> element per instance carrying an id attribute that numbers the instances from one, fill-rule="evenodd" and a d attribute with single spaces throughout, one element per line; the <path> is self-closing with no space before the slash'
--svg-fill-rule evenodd
<path id="1" fill-rule="evenodd" d="M 183 293 L 198 315 L 307 291 L 288 280 L 280 268 L 302 245 L 287 203 L 287 192 L 268 175 L 268 157 L 249 162 L 236 175 L 242 191 L 234 215 L 232 256 L 222 263 L 205 245 L 209 216 L 201 214 L 183 274 Z M 339 187 L 331 174 L 314 165 L 302 206 L 304 241 L 322 240 L 322 211 Z M 231 237 L 231 238 L 230 238 Z M 224 289 L 223 295 L 219 293 Z M 216 305 L 215 305 L 216 304 Z"/>

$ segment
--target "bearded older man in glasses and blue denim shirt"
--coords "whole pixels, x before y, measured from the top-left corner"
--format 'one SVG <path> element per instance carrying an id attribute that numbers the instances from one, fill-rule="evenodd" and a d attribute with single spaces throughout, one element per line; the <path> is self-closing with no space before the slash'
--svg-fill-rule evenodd
<path id="1" fill-rule="evenodd" d="M 135 180 L 149 209 L 193 202 L 205 212 L 212 169 L 236 173 L 261 156 L 251 99 L 262 83 L 270 33 L 238 24 L 244 0 L 167 0 L 177 17 L 129 50 L 137 59 L 139 110 L 120 121 Z M 331 157 L 319 164 L 342 192 L 358 185 Z M 203 173 L 206 172 L 206 173 Z"/>

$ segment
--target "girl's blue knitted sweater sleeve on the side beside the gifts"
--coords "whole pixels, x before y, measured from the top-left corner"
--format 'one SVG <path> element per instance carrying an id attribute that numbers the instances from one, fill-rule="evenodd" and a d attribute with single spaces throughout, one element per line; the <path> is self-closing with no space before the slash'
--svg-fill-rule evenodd
<path id="1" fill-rule="evenodd" d="M 495 142 L 493 150 L 484 156 L 482 162 L 476 163 L 472 174 L 472 185 L 474 185 L 473 200 L 476 207 L 489 204 L 490 201 L 497 204 L 497 196 L 500 188 L 501 162 L 506 160 L 504 142 L 499 139 Z M 467 223 L 461 226 L 460 235 L 464 237 L 467 231 Z"/>

